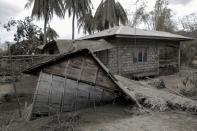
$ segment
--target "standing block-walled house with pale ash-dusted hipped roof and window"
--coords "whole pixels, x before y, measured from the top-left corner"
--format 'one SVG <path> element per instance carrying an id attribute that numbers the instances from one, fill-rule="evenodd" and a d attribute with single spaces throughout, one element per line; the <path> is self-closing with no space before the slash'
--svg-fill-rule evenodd
<path id="1" fill-rule="evenodd" d="M 96 52 L 114 74 L 126 77 L 156 76 L 180 68 L 180 43 L 192 38 L 161 31 L 117 26 L 78 40 L 104 39 L 113 48 Z"/>

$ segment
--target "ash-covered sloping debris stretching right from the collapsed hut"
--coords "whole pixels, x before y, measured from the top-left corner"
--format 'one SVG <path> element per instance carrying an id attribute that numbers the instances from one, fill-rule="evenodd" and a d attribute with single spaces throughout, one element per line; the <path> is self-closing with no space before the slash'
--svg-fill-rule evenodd
<path id="1" fill-rule="evenodd" d="M 145 84 L 143 85 L 142 83 L 121 76 L 116 76 L 116 78 L 123 86 L 128 88 L 128 92 L 132 90 L 136 100 L 144 107 L 157 111 L 176 109 L 197 112 L 197 101 L 167 91 L 147 88 Z"/>

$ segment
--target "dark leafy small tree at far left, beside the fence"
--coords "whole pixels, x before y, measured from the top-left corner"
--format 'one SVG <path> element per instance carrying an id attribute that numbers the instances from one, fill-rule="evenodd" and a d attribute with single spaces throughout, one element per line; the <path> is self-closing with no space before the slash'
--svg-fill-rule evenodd
<path id="1" fill-rule="evenodd" d="M 42 44 L 42 29 L 33 23 L 33 19 L 25 17 L 24 20 L 10 20 L 4 25 L 7 31 L 16 28 L 14 41 L 16 44 L 11 45 L 13 55 L 33 54 L 36 52 L 38 45 Z"/>

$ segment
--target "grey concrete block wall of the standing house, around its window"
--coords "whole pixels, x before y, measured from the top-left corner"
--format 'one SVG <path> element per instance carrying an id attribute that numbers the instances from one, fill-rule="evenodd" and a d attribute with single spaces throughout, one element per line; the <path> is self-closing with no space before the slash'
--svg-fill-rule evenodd
<path id="1" fill-rule="evenodd" d="M 106 55 L 106 57 L 108 57 L 106 66 L 112 73 L 123 76 L 141 73 L 158 75 L 159 57 L 158 47 L 155 41 L 144 40 L 137 41 L 137 43 L 134 44 L 135 42 L 131 40 L 113 39 L 109 42 L 115 45 L 115 48 L 108 51 L 108 56 Z M 136 48 L 147 48 L 147 62 L 133 62 L 133 53 Z"/>

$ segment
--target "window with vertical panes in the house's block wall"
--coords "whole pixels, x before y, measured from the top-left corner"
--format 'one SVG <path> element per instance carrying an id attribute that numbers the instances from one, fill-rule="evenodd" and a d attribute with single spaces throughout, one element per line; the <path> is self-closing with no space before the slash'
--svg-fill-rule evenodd
<path id="1" fill-rule="evenodd" d="M 147 62 L 147 48 L 137 48 L 133 52 L 133 63 Z"/>

